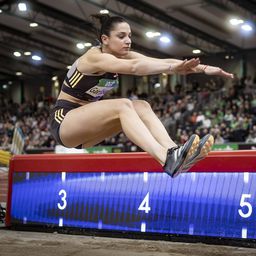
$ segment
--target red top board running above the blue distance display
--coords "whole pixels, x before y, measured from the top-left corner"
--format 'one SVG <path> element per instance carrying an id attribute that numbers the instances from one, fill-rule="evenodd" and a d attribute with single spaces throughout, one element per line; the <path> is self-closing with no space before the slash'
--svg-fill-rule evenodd
<path id="1" fill-rule="evenodd" d="M 213 151 L 192 172 L 254 172 L 256 151 Z M 10 172 L 162 172 L 146 153 L 35 154 L 11 159 Z"/>

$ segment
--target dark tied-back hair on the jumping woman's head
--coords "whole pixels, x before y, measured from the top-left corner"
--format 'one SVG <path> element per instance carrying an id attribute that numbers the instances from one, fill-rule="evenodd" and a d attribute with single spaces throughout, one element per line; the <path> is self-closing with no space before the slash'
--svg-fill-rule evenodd
<path id="1" fill-rule="evenodd" d="M 98 40 L 101 41 L 102 35 L 110 35 L 110 32 L 114 30 L 114 27 L 122 22 L 127 22 L 124 18 L 120 16 L 110 17 L 108 14 L 94 14 L 91 15 L 92 18 L 97 19 L 100 22 L 101 28 L 97 31 Z"/>

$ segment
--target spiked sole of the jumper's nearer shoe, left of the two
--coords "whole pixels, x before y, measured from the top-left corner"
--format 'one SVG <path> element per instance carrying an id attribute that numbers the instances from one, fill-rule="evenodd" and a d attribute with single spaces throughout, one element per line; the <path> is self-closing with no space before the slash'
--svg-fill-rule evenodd
<path id="1" fill-rule="evenodd" d="M 184 160 L 174 169 L 174 171 L 170 174 L 171 177 L 176 177 L 180 173 L 180 168 L 183 166 L 183 164 L 192 156 L 195 154 L 195 152 L 198 149 L 200 142 L 200 138 L 198 135 L 194 134 L 192 135 L 189 140 L 186 142 L 187 150 L 184 151 L 183 155 L 186 155 Z"/>

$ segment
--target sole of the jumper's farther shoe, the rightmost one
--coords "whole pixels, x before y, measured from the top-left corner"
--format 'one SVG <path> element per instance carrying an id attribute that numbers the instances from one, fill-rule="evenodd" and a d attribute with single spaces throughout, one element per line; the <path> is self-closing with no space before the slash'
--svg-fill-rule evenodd
<path id="1" fill-rule="evenodd" d="M 194 154 L 194 156 L 191 157 L 191 159 L 188 158 L 187 163 L 185 161 L 183 162 L 183 166 L 181 167 L 180 172 L 184 173 L 189 171 L 189 169 L 193 165 L 195 165 L 200 160 L 204 159 L 211 151 L 213 144 L 214 144 L 214 138 L 212 135 L 208 134 L 204 136 L 199 142 L 197 152 Z"/>

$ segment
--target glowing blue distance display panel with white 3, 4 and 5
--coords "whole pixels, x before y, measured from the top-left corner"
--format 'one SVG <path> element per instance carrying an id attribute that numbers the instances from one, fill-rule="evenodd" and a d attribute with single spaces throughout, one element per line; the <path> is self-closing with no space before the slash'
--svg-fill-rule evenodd
<path id="1" fill-rule="evenodd" d="M 253 184 L 256 173 L 14 172 L 11 222 L 255 239 Z"/>

